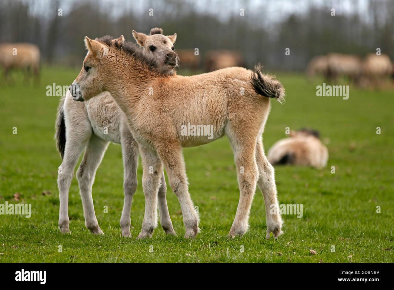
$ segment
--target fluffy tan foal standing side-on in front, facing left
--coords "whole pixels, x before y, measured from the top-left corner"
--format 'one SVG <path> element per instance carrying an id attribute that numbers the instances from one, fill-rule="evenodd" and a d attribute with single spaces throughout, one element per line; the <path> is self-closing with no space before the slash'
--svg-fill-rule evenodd
<path id="1" fill-rule="evenodd" d="M 256 182 L 266 206 L 266 238 L 271 232 L 274 237 L 282 233 L 274 171 L 262 144 L 270 98 L 281 101 L 284 97 L 278 80 L 263 75 L 260 67 L 254 72 L 229 67 L 191 77 L 168 76 L 152 58 L 139 54 L 136 46 L 88 37 L 85 45 L 89 52 L 70 90 L 76 101 L 88 101 L 107 90 L 125 112 L 143 164 L 145 216 L 139 238 L 151 237 L 156 227 L 163 166 L 180 203 L 185 237 L 197 235 L 199 218 L 188 191 L 182 148 L 207 144 L 223 135 L 234 151 L 240 186 L 229 236 L 247 231 Z M 210 126 L 212 135 L 203 129 L 198 134 L 185 132 L 188 123 L 200 129 Z"/>

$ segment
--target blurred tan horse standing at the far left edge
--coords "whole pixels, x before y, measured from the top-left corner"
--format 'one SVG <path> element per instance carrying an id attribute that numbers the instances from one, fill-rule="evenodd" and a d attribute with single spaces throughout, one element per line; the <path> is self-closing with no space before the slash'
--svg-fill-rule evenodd
<path id="1" fill-rule="evenodd" d="M 4 69 L 4 79 L 8 80 L 11 69 L 22 69 L 25 72 L 25 81 L 29 75 L 34 75 L 39 81 L 40 50 L 32 43 L 1 43 L 0 66 Z"/>

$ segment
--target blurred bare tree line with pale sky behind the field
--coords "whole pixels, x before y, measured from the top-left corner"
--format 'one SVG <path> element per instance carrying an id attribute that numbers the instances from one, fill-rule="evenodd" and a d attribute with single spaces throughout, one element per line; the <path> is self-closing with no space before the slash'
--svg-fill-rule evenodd
<path id="1" fill-rule="evenodd" d="M 282 11 L 281 6 L 294 2 L 305 8 Z M 247 67 L 261 62 L 268 69 L 303 70 L 319 54 L 365 56 L 378 47 L 394 60 L 393 0 L 0 2 L 0 42 L 35 43 L 48 64 L 79 66 L 86 54 L 85 35 L 124 34 L 134 41 L 133 29 L 148 33 L 152 27 L 176 32 L 176 49 L 198 48 L 200 57 L 214 49 L 240 51 Z"/>

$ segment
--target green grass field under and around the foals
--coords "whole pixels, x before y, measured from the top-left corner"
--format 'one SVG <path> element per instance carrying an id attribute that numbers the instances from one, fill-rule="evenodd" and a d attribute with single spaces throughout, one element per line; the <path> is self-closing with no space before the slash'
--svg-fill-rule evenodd
<path id="1" fill-rule="evenodd" d="M 287 97 L 284 105 L 272 102 L 265 148 L 286 137 L 285 127 L 313 127 L 322 139 L 329 139 L 330 158 L 323 170 L 275 168 L 279 202 L 303 204 L 302 218 L 283 216 L 284 234 L 279 239 L 264 239 L 266 213 L 259 190 L 249 231 L 242 238 L 227 238 L 239 198 L 227 137 L 184 150 L 191 198 L 201 218 L 197 238 L 183 238 L 180 206 L 168 187 L 177 236 L 165 236 L 159 223 L 151 239 L 136 240 L 145 204 L 141 167 L 131 213 L 133 238 L 120 236 L 123 167 L 121 147 L 113 144 L 93 185 L 96 215 L 105 235 L 94 236 L 85 228 L 76 178 L 69 193 L 71 235 L 62 235 L 56 181 L 61 159 L 53 139 L 59 97 L 47 97 L 46 86 L 71 84 L 78 73 L 79 69 L 46 68 L 39 87 L 21 80 L 0 86 L 0 204 L 32 204 L 31 218 L 0 215 L 0 262 L 394 262 L 392 90 L 351 86 L 348 100 L 317 97 L 316 85 L 322 81 L 310 82 L 301 74 L 277 74 Z M 380 135 L 376 127 L 381 127 Z M 43 195 L 44 191 L 50 193 Z M 13 199 L 15 193 L 19 201 Z"/>

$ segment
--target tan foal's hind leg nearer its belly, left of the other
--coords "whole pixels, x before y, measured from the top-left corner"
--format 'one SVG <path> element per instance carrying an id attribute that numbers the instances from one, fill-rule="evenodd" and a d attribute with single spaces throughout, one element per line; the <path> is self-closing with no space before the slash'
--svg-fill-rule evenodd
<path id="1" fill-rule="evenodd" d="M 238 138 L 241 135 L 228 135 L 234 150 L 240 187 L 237 213 L 229 233 L 229 236 L 234 238 L 235 236 L 243 236 L 249 227 L 249 211 L 255 195 L 258 170 L 255 160 L 255 142 L 247 140 L 247 138 L 241 140 Z"/>

